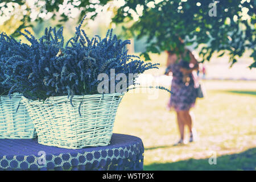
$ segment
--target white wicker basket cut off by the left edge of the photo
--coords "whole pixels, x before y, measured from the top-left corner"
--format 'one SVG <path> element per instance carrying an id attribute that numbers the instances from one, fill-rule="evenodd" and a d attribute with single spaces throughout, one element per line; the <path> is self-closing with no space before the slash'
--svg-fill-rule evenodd
<path id="1" fill-rule="evenodd" d="M 20 103 L 22 95 L 0 97 L 0 139 L 31 139 L 36 137 L 34 124 L 26 107 Z"/>

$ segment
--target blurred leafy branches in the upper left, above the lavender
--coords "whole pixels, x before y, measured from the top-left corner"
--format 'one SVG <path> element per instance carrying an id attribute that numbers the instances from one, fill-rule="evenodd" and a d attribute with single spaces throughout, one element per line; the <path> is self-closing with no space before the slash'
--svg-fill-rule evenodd
<path id="1" fill-rule="evenodd" d="M 16 29 L 16 31 L 21 31 L 22 29 L 26 27 L 33 27 L 33 24 L 31 23 L 34 18 L 31 18 L 31 13 L 33 12 L 35 16 L 35 21 L 36 22 L 43 22 L 44 18 L 40 16 L 40 14 L 51 14 L 51 18 L 55 19 L 56 14 L 60 15 L 60 20 L 58 26 L 60 27 L 61 24 L 64 22 L 67 22 L 67 20 L 70 18 L 71 14 L 71 9 L 70 7 L 73 7 L 75 9 L 78 9 L 80 11 L 80 18 L 79 20 L 82 19 L 82 15 L 89 13 L 89 12 L 94 12 L 96 11 L 97 6 L 104 6 L 109 0 L 101 0 L 101 1 L 89 1 L 89 0 L 82 0 L 82 1 L 77 1 L 77 0 L 69 0 L 69 1 L 63 1 L 63 0 L 47 0 L 47 1 L 34 1 L 32 2 L 33 5 L 30 6 L 27 2 L 28 0 L 6 0 L 4 2 L 1 1 L 0 3 L 0 18 L 5 18 L 5 16 L 9 15 L 9 12 L 5 10 L 5 8 L 12 7 L 15 9 L 18 5 L 18 7 L 24 8 L 22 19 L 20 20 L 21 24 L 20 26 Z M 60 13 L 60 7 L 64 6 L 64 8 L 67 10 L 68 13 Z M 68 7 L 68 8 L 67 8 Z M 94 18 L 96 14 L 92 15 L 91 18 Z M 19 34 L 14 32 L 12 36 L 19 36 Z"/>

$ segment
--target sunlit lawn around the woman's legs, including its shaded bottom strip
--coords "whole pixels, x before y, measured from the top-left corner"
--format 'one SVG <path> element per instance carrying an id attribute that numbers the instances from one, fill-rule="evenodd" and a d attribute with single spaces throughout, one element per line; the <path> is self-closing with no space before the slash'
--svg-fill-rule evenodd
<path id="1" fill-rule="evenodd" d="M 179 134 L 174 111 L 166 110 L 169 93 L 159 90 L 157 100 L 145 93 L 123 97 L 114 133 L 142 139 L 145 170 L 256 169 L 256 82 L 204 83 L 208 95 L 193 109 L 199 139 L 185 146 L 172 146 Z M 213 152 L 216 165 L 208 163 Z"/>

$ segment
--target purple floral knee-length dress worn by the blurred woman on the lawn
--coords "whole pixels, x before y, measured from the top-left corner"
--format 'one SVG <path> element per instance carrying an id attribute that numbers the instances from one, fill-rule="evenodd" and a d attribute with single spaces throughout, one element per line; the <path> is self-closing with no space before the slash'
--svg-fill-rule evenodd
<path id="1" fill-rule="evenodd" d="M 174 108 L 176 111 L 189 110 L 195 105 L 197 92 L 192 73 L 187 75 L 187 80 L 184 82 L 183 73 L 180 68 L 188 68 L 189 63 L 181 60 L 179 63 L 171 64 L 170 71 L 172 72 L 171 98 L 168 102 L 168 109 Z"/>

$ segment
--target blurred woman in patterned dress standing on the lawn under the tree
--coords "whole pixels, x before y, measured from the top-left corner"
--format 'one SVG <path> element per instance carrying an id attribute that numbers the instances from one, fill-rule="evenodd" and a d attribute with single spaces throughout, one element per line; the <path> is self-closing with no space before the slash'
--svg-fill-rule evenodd
<path id="1" fill-rule="evenodd" d="M 197 97 L 199 64 L 188 49 L 185 49 L 179 57 L 173 52 L 167 51 L 167 53 L 166 75 L 172 73 L 171 90 L 173 92 L 168 102 L 168 109 L 175 109 L 180 132 L 180 140 L 175 145 L 184 144 L 184 127 L 186 125 L 189 129 L 189 142 L 193 142 L 195 140 L 195 130 L 193 129 L 195 117 L 191 107 L 195 105 Z M 186 56 L 188 61 L 185 61 Z"/>

